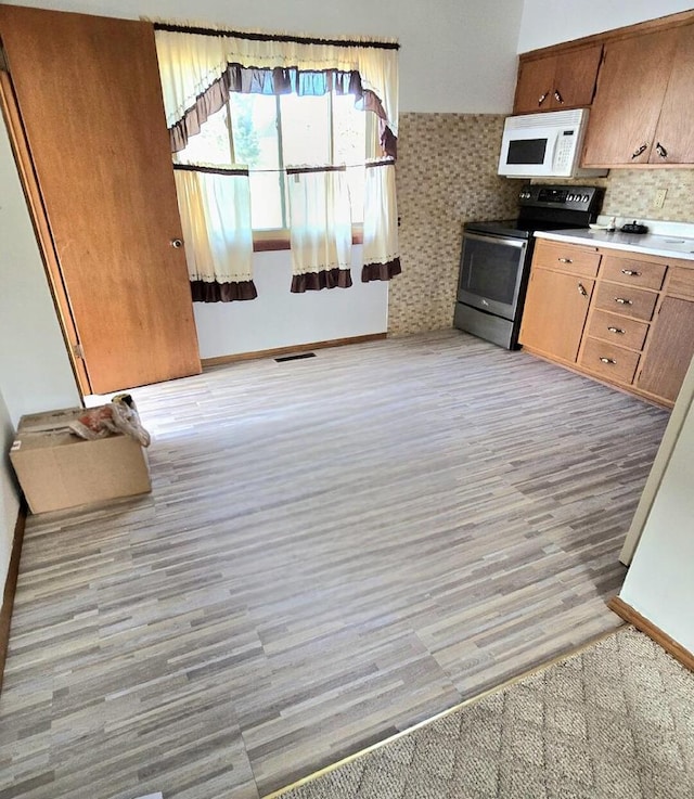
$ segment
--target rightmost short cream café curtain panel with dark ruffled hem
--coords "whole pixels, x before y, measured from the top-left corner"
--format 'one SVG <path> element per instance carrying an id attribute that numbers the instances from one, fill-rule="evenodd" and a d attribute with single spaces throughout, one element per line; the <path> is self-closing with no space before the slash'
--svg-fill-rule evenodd
<path id="1" fill-rule="evenodd" d="M 398 246 L 398 204 L 395 191 L 395 164 L 376 160 L 367 164 L 364 182 L 363 261 L 361 280 L 390 280 L 400 274 Z"/>

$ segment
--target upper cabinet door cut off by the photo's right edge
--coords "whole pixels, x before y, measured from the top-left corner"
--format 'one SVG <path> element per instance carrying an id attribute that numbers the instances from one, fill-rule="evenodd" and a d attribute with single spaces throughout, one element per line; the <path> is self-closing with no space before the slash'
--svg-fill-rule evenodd
<path id="1" fill-rule="evenodd" d="M 694 25 L 680 28 L 670 81 L 651 151 L 651 164 L 694 164 Z"/>

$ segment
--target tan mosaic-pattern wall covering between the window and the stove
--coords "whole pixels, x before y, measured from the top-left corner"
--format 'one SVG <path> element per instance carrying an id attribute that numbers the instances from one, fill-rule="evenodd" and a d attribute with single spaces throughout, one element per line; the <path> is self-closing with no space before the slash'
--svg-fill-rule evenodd
<path id="1" fill-rule="evenodd" d="M 516 217 L 522 182 L 497 175 L 503 120 L 496 114 L 400 115 L 402 274 L 388 288 L 390 335 L 451 327 L 463 222 Z"/>

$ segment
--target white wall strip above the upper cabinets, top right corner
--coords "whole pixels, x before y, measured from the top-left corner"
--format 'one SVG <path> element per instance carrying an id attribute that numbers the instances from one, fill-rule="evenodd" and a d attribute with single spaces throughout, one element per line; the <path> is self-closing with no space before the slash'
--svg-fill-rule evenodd
<path id="1" fill-rule="evenodd" d="M 518 52 L 692 9 L 692 0 L 525 0 Z"/>

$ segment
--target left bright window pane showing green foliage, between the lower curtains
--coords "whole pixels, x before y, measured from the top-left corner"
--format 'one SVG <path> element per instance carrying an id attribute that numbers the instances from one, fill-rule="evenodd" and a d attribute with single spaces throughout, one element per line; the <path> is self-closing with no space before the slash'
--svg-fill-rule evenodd
<path id="1" fill-rule="evenodd" d="M 235 159 L 250 169 L 253 228 L 284 228 L 277 100 L 265 94 L 233 93 L 229 104 Z"/>

